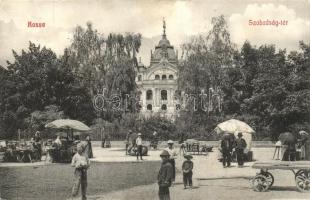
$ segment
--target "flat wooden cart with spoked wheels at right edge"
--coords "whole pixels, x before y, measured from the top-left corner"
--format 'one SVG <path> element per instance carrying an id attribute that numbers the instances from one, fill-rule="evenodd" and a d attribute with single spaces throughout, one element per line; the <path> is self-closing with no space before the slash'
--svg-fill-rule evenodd
<path id="1" fill-rule="evenodd" d="M 267 191 L 274 183 L 274 177 L 268 170 L 290 170 L 295 175 L 296 187 L 301 192 L 310 192 L 310 161 L 261 161 L 252 168 L 260 172 L 252 179 L 255 191 Z"/>

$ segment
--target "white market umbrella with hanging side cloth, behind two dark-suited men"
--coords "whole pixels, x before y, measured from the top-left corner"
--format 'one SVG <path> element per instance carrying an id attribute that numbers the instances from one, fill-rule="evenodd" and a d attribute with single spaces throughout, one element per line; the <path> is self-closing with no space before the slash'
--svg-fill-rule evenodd
<path id="1" fill-rule="evenodd" d="M 244 152 L 247 153 L 251 150 L 252 133 L 255 133 L 255 131 L 247 123 L 236 119 L 230 119 L 218 124 L 215 128 L 215 131 L 219 135 L 226 133 L 234 134 L 236 138 L 238 137 L 238 133 L 241 132 L 243 139 L 247 143 L 247 147 L 245 148 Z"/>

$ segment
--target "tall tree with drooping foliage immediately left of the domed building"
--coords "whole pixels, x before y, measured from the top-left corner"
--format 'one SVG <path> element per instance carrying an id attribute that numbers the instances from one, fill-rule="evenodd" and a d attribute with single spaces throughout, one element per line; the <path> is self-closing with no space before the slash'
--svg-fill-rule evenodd
<path id="1" fill-rule="evenodd" d="M 136 54 L 141 45 L 140 34 L 109 34 L 105 38 L 91 23 L 87 28 L 80 26 L 74 31 L 73 42 L 68 49 L 70 64 L 75 68 L 80 82 L 89 90 L 92 98 L 105 88 L 105 96 L 110 100 L 113 95 L 119 95 L 121 105 L 127 108 L 106 108 L 104 118 L 113 121 L 121 118 L 123 112 L 133 112 L 135 104 L 125 102 L 126 95 L 136 96 L 135 70 Z M 108 104 L 111 102 L 108 102 Z"/>

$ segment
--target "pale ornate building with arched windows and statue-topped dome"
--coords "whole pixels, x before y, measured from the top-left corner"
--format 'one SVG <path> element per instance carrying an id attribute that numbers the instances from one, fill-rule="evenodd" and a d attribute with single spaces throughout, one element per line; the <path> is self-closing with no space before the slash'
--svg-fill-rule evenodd
<path id="1" fill-rule="evenodd" d="M 159 114 L 174 119 L 180 105 L 175 100 L 178 78 L 178 52 L 166 36 L 163 22 L 163 35 L 155 51 L 151 50 L 150 66 L 138 64 L 136 83 L 140 91 L 141 114 L 148 117 Z"/>

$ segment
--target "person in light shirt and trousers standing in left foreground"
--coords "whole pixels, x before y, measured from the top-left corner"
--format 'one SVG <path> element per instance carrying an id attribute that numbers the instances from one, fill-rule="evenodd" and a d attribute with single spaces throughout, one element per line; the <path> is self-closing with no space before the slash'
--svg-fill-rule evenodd
<path id="1" fill-rule="evenodd" d="M 83 154 L 83 146 L 81 143 L 77 146 L 77 153 L 73 156 L 71 166 L 75 167 L 74 185 L 72 188 L 72 196 L 76 197 L 81 187 L 82 200 L 86 200 L 87 189 L 87 170 L 89 168 L 89 159 Z"/>

